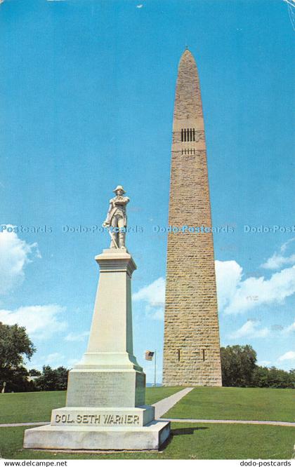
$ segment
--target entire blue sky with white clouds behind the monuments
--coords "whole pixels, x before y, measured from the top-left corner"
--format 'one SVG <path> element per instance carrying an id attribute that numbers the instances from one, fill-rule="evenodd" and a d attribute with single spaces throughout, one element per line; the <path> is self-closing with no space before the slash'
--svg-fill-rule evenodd
<path id="1" fill-rule="evenodd" d="M 161 380 L 166 235 L 153 226 L 167 224 L 185 44 L 201 81 L 213 224 L 234 226 L 214 235 L 221 344 L 295 367 L 294 34 L 280 0 L 1 3 L 0 223 L 19 230 L 0 234 L 0 320 L 27 325 L 29 367 L 71 367 L 85 351 L 93 257 L 109 241 L 95 226 L 124 184 L 129 225 L 143 229 L 127 240 L 134 348 L 149 382 L 143 353 L 157 348 Z"/>

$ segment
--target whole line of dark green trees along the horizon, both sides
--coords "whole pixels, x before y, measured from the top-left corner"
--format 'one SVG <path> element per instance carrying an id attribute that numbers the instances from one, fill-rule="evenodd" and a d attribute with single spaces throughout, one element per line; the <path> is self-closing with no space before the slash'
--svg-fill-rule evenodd
<path id="1" fill-rule="evenodd" d="M 67 388 L 65 367 L 44 365 L 42 372 L 27 370 L 36 348 L 25 327 L 0 323 L 0 392 L 64 391 Z M 256 364 L 254 348 L 246 346 L 221 347 L 223 386 L 252 388 L 295 388 L 295 369 L 289 372 L 276 367 Z"/>

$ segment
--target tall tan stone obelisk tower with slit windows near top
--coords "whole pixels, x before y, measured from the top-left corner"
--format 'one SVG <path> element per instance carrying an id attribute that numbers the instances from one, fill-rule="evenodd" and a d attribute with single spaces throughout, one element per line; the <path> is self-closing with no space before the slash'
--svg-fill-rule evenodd
<path id="1" fill-rule="evenodd" d="M 169 225 L 180 231 L 168 234 L 163 384 L 221 386 L 204 119 L 197 65 L 189 50 L 178 67 Z"/>

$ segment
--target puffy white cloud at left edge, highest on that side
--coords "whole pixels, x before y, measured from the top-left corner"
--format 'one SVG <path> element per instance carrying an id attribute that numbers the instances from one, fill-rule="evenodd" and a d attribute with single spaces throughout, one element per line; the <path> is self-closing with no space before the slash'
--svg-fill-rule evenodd
<path id="1" fill-rule="evenodd" d="M 13 226 L 7 226 L 13 228 Z M 4 295 L 20 285 L 25 278 L 25 265 L 32 257 L 41 257 L 37 243 L 26 243 L 7 230 L 0 233 L 0 294 Z"/>

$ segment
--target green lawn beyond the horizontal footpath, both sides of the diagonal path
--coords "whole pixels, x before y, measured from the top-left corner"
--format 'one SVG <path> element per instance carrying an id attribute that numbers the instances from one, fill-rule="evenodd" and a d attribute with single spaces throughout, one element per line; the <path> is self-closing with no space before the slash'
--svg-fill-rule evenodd
<path id="1" fill-rule="evenodd" d="M 153 404 L 181 387 L 147 388 Z M 65 391 L 0 394 L 0 424 L 49 421 L 65 405 Z M 295 421 L 295 391 L 269 388 L 195 388 L 165 414 L 180 419 Z"/>

